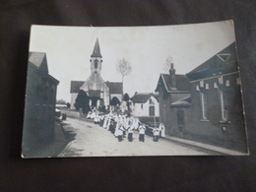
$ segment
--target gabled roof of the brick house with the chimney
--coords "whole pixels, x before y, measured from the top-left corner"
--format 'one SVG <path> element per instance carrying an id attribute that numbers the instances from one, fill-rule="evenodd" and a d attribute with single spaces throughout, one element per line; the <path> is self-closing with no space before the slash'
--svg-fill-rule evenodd
<path id="1" fill-rule="evenodd" d="M 178 92 L 189 92 L 190 83 L 185 75 L 175 75 L 176 78 L 176 89 L 173 90 L 170 85 L 169 74 L 160 74 L 158 87 L 155 92 L 159 92 L 160 85 L 162 85 L 167 93 L 178 93 Z"/>

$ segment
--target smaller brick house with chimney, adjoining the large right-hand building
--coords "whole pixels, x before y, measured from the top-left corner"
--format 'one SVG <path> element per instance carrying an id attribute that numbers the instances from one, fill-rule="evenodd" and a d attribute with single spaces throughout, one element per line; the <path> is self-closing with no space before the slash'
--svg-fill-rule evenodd
<path id="1" fill-rule="evenodd" d="M 169 74 L 160 74 L 156 92 L 159 93 L 160 123 L 165 133 L 180 136 L 190 119 L 191 94 L 189 80 L 185 75 L 175 74 L 173 63 Z"/>

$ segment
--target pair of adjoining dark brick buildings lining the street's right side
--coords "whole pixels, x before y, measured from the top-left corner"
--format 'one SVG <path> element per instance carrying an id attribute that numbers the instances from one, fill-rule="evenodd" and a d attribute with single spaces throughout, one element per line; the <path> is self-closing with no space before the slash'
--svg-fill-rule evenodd
<path id="1" fill-rule="evenodd" d="M 186 76 L 160 74 L 160 122 L 166 134 L 246 152 L 235 42 Z"/>

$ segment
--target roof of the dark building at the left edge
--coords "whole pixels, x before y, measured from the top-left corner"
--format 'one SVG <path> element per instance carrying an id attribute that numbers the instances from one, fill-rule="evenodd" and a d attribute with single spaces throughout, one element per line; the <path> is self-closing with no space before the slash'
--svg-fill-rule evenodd
<path id="1" fill-rule="evenodd" d="M 32 63 L 32 65 L 43 73 L 49 73 L 45 52 L 30 52 L 29 63 Z"/>

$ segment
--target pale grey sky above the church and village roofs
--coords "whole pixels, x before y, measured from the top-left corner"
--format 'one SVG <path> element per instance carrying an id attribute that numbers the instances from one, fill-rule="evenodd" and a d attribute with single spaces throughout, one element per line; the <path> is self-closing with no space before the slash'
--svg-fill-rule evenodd
<path id="1" fill-rule="evenodd" d="M 30 51 L 45 52 L 49 74 L 60 83 L 57 99 L 70 102 L 71 81 L 91 75 L 96 38 L 102 55 L 101 77 L 121 82 L 118 59 L 132 66 L 124 93 L 155 92 L 167 57 L 176 74 L 186 74 L 235 40 L 232 21 L 157 27 L 56 27 L 32 25 Z"/>

